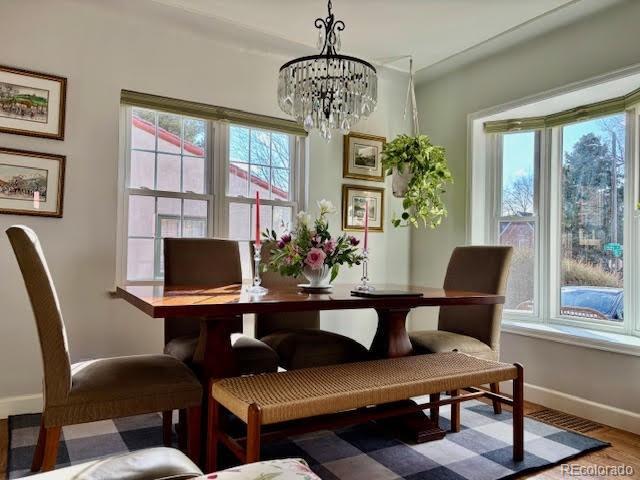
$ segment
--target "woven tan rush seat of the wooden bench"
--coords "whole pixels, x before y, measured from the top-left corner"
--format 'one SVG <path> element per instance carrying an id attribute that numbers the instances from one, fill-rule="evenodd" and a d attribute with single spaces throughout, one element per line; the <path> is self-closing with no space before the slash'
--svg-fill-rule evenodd
<path id="1" fill-rule="evenodd" d="M 516 376 L 514 365 L 447 352 L 226 378 L 213 384 L 212 395 L 245 423 L 255 404 L 269 425 Z"/>

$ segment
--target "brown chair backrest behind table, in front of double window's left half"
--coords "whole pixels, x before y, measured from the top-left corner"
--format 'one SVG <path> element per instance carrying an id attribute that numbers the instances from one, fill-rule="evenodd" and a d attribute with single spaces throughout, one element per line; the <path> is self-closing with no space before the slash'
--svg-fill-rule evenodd
<path id="1" fill-rule="evenodd" d="M 165 238 L 164 284 L 166 286 L 217 287 L 242 283 L 238 242 L 217 238 Z M 198 318 L 166 318 L 165 343 L 181 336 L 197 335 Z M 233 331 L 242 331 L 242 319 Z"/>

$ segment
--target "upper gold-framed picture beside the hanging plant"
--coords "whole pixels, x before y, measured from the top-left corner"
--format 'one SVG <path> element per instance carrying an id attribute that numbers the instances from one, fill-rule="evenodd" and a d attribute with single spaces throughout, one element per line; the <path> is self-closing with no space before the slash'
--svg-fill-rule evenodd
<path id="1" fill-rule="evenodd" d="M 344 137 L 342 176 L 358 180 L 384 181 L 380 154 L 387 139 L 364 133 L 350 133 Z"/>

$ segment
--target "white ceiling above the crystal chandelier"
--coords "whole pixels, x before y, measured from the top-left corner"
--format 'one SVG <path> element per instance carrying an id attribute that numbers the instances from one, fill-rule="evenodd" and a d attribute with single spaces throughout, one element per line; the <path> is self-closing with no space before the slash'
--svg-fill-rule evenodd
<path id="1" fill-rule="evenodd" d="M 153 0 L 165 6 L 316 48 L 317 17 L 325 0 Z M 616 0 L 598 0 L 600 8 Z M 416 70 L 429 67 L 521 26 L 593 0 L 333 0 L 337 19 L 346 23 L 343 53 L 378 64 L 412 55 Z M 576 8 L 578 7 L 578 8 Z M 584 9 L 583 9 L 584 10 Z M 584 12 L 582 12 L 584 13 Z M 566 17 L 566 12 L 563 12 Z M 570 19 L 569 19 L 570 20 Z M 397 63 L 397 62 L 396 62 Z M 391 62 L 393 64 L 393 62 Z M 395 65 L 406 68 L 406 60 Z"/>

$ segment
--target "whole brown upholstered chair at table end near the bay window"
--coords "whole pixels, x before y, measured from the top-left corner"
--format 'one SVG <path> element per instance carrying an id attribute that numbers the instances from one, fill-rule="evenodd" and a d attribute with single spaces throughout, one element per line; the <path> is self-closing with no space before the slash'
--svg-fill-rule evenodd
<path id="1" fill-rule="evenodd" d="M 457 247 L 451 254 L 444 288 L 504 295 L 511 264 L 511 247 Z M 437 330 L 411 332 L 416 353 L 457 351 L 487 360 L 500 358 L 502 305 L 440 307 Z M 498 384 L 491 390 L 499 392 Z M 494 402 L 500 413 L 500 402 Z"/>

